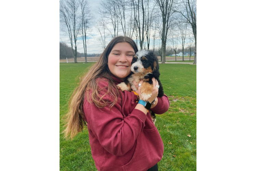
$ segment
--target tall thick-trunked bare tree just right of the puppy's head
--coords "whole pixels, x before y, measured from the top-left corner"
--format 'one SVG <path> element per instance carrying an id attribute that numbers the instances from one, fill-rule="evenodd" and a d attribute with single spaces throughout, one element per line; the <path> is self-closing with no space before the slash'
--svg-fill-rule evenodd
<path id="1" fill-rule="evenodd" d="M 174 4 L 174 0 L 155 0 L 158 8 L 161 11 L 162 16 L 162 64 L 165 63 L 165 55 L 166 55 L 166 41 L 167 41 L 167 33 L 170 27 L 170 16 L 171 16 L 171 10 L 172 5 Z M 160 17 L 161 18 L 161 17 Z"/>

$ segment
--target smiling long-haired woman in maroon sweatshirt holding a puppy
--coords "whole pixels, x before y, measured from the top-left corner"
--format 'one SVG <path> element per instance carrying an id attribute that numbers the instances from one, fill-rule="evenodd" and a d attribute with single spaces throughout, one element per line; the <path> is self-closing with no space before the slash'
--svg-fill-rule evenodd
<path id="1" fill-rule="evenodd" d="M 132 92 L 116 85 L 130 73 L 132 56 L 138 51 L 129 37 L 115 37 L 99 61 L 81 80 L 69 101 L 65 137 L 73 138 L 87 125 L 95 166 L 99 171 L 158 170 L 164 146 L 148 109 L 138 103 L 139 83 Z M 169 108 L 166 95 L 157 97 L 158 82 L 149 102 L 150 110 L 163 114 Z M 138 94 L 138 95 L 137 95 Z"/>

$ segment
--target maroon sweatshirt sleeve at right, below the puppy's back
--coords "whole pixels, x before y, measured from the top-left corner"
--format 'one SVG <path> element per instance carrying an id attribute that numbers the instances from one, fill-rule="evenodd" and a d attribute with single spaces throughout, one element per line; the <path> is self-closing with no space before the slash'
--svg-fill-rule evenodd
<path id="1" fill-rule="evenodd" d="M 158 103 L 155 107 L 151 108 L 150 110 L 152 110 L 155 114 L 163 114 L 166 111 L 168 111 L 169 107 L 170 107 L 170 102 L 169 99 L 167 97 L 167 95 L 164 94 L 164 96 L 162 97 L 157 97 L 158 98 Z"/>

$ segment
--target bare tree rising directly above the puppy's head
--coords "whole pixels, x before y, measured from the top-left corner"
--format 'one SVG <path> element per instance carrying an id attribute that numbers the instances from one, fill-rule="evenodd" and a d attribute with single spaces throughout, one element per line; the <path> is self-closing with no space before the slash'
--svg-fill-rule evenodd
<path id="1" fill-rule="evenodd" d="M 135 19 L 135 24 L 138 29 L 138 37 L 139 37 L 139 42 L 140 42 L 140 49 L 143 49 L 143 42 L 144 42 L 144 26 L 145 26 L 145 9 L 143 5 L 143 0 L 132 0 L 132 8 L 134 10 L 134 19 Z M 142 17 L 140 16 L 142 11 Z M 141 23 L 141 18 L 142 18 L 142 23 Z"/>

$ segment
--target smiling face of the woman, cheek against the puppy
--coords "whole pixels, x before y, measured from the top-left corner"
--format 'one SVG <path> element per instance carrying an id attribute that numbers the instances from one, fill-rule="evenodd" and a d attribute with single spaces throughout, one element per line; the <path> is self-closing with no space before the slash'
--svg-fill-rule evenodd
<path id="1" fill-rule="evenodd" d="M 125 79 L 131 73 L 131 61 L 134 54 L 129 43 L 116 43 L 108 55 L 108 68 L 111 73 L 119 79 Z"/>

